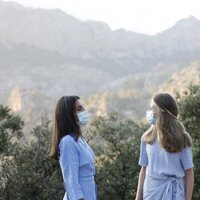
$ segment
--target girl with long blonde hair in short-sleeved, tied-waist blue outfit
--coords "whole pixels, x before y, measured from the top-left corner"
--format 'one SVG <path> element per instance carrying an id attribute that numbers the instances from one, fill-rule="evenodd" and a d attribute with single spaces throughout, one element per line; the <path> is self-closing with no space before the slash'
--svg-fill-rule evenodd
<path id="1" fill-rule="evenodd" d="M 153 97 L 146 112 L 152 126 L 141 138 L 136 200 L 192 198 L 192 141 L 177 116 L 178 106 L 171 95 Z"/>

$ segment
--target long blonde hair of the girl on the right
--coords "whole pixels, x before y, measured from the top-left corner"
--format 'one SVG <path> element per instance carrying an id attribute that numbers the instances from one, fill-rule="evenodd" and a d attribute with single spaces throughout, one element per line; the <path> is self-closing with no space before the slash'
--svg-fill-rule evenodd
<path id="1" fill-rule="evenodd" d="M 191 137 L 177 118 L 178 105 L 175 99 L 170 94 L 160 93 L 153 97 L 153 101 L 158 109 L 156 125 L 143 134 L 142 140 L 153 144 L 158 139 L 161 147 L 171 153 L 191 146 Z"/>

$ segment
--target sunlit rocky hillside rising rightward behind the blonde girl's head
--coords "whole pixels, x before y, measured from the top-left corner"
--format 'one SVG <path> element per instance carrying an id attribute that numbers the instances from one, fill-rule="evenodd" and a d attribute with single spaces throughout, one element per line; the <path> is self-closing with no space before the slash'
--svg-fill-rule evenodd
<path id="1" fill-rule="evenodd" d="M 171 66 L 171 69 L 174 66 Z M 134 120 L 144 120 L 145 112 L 149 107 L 151 98 L 156 93 L 170 93 L 176 97 L 187 91 L 191 83 L 200 82 L 200 62 L 193 62 L 181 70 L 164 74 L 153 71 L 146 74 L 129 76 L 113 88 L 87 96 L 84 101 L 95 115 L 106 115 L 108 112 L 117 111 Z M 170 75 L 169 75 L 170 74 Z M 164 79 L 165 77 L 165 79 Z"/>

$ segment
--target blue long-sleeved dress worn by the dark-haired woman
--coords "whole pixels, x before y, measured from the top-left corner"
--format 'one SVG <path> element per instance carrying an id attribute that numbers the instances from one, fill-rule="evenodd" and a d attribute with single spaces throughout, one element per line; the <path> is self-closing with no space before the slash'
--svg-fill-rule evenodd
<path id="1" fill-rule="evenodd" d="M 64 200 L 96 200 L 95 154 L 86 141 L 73 134 L 66 135 L 59 144 L 59 163 L 65 185 Z"/>

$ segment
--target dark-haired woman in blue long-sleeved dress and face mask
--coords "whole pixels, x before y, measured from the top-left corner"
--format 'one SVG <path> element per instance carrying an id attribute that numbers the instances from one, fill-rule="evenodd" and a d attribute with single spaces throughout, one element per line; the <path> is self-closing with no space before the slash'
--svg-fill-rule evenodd
<path id="1" fill-rule="evenodd" d="M 64 200 L 96 200 L 95 155 L 82 136 L 89 114 L 77 96 L 63 96 L 55 110 L 55 128 L 50 157 L 58 160 L 64 185 Z"/>

